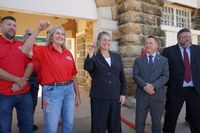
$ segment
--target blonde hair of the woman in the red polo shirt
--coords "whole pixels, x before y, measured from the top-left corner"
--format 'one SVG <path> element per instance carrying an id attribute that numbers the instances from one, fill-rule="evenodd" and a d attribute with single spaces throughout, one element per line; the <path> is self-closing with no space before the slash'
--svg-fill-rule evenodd
<path id="1" fill-rule="evenodd" d="M 66 42 L 66 34 L 65 34 L 65 30 L 62 26 L 59 26 L 59 25 L 56 25 L 54 26 L 49 32 L 47 32 L 47 38 L 46 38 L 46 41 L 47 41 L 47 46 L 49 44 L 51 44 L 53 42 L 53 34 L 55 33 L 55 31 L 60 28 L 63 32 L 64 32 L 64 42 L 62 44 L 62 47 L 63 48 L 66 48 L 66 45 L 65 45 L 65 42 Z"/>

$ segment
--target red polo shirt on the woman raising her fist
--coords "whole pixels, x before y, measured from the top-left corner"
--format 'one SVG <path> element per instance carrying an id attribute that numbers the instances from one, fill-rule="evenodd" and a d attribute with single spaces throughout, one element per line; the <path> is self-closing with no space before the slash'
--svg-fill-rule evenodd
<path id="1" fill-rule="evenodd" d="M 77 73 L 71 52 L 63 48 L 62 54 L 53 45 L 33 47 L 33 58 L 40 62 L 41 84 L 71 80 Z"/>

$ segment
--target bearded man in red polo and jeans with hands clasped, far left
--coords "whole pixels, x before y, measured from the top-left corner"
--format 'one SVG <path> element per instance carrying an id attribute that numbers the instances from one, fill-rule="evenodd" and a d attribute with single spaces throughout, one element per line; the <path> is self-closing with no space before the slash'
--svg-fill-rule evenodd
<path id="1" fill-rule="evenodd" d="M 27 82 L 33 65 L 22 53 L 23 42 L 15 39 L 16 20 L 6 16 L 0 29 L 0 133 L 11 133 L 12 111 L 17 111 L 20 133 L 33 132 L 33 103 Z"/>

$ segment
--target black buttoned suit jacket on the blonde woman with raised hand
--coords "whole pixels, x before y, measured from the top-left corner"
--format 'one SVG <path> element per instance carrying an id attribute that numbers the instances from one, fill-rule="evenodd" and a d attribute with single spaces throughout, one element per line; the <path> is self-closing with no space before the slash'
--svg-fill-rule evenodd
<path id="1" fill-rule="evenodd" d="M 87 55 L 84 69 L 92 78 L 90 97 L 98 99 L 119 99 L 126 93 L 126 81 L 121 57 L 110 52 L 111 67 L 101 53 Z"/>

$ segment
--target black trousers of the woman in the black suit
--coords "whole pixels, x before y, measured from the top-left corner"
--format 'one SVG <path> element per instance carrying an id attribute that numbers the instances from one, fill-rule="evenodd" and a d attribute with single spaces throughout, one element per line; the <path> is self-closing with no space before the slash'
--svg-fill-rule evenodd
<path id="1" fill-rule="evenodd" d="M 122 133 L 119 100 L 90 99 L 91 133 Z"/>

